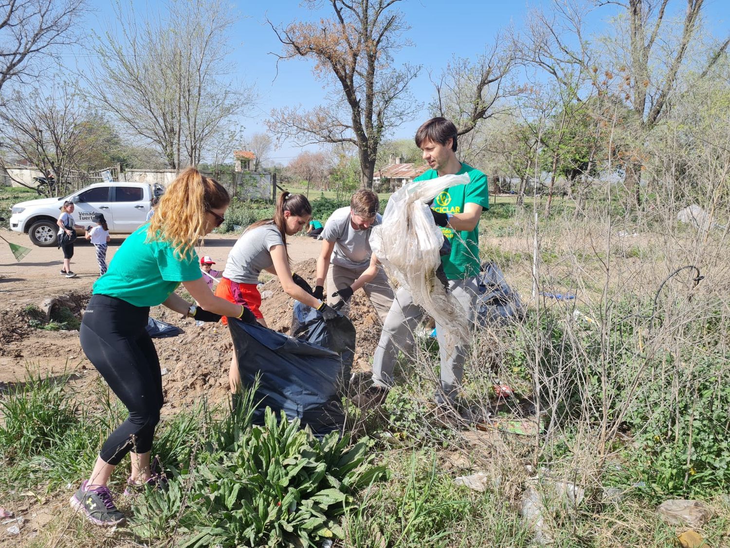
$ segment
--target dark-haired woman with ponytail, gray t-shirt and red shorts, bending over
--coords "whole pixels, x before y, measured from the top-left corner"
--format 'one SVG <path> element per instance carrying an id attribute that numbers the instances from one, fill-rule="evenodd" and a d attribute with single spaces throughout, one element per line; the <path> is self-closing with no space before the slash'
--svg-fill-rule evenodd
<path id="1" fill-rule="evenodd" d="M 310 218 L 312 206 L 304 194 L 282 192 L 274 210 L 274 218 L 252 224 L 231 249 L 223 278 L 215 288 L 215 294 L 250 308 L 258 323 L 267 327 L 264 314 L 261 313 L 261 294 L 257 287 L 258 275 L 261 270 L 266 270 L 277 275 L 282 289 L 293 299 L 319 311 L 328 309 L 324 302 L 312 297 L 312 294 L 299 285 L 303 280 L 292 275 L 289 267 L 286 237 L 299 232 Z M 226 323 L 225 318 L 223 322 Z M 231 390 L 237 392 L 241 380 L 235 352 L 231 359 L 228 380 Z"/>

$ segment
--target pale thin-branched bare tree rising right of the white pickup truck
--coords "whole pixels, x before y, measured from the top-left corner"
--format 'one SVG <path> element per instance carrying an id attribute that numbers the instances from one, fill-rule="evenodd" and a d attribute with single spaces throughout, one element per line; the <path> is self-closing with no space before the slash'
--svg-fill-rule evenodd
<path id="1" fill-rule="evenodd" d="M 174 2 L 164 15 L 138 19 L 115 4 L 116 25 L 96 41 L 99 64 L 85 75 L 96 101 L 157 145 L 169 167 L 198 164 L 215 134 L 253 100 L 223 76 L 231 17 L 221 0 Z"/>

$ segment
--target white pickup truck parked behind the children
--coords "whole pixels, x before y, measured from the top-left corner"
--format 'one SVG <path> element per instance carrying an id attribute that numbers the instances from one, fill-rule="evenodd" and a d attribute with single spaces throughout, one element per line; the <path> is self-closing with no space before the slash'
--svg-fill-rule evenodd
<path id="1" fill-rule="evenodd" d="M 164 187 L 148 183 L 96 183 L 61 198 L 31 199 L 12 206 L 10 229 L 25 232 L 36 246 L 56 245 L 58 225 L 65 200 L 74 202 L 77 224 L 93 224 L 96 213 L 103 213 L 112 234 L 131 234 L 145 224 L 152 199 Z"/>

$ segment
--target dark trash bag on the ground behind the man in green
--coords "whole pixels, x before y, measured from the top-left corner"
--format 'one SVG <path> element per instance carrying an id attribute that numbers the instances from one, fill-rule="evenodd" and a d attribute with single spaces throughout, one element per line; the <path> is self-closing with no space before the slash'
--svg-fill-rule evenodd
<path id="1" fill-rule="evenodd" d="M 504 325 L 522 319 L 524 310 L 520 296 L 507 284 L 495 263 L 483 263 L 478 283 L 477 321 L 480 326 Z"/>

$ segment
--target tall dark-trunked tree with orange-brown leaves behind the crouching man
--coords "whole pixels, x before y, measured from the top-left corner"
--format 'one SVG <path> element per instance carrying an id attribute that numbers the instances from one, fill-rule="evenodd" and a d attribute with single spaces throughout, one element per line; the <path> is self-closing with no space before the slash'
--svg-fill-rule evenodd
<path id="1" fill-rule="evenodd" d="M 299 144 L 351 142 L 358 147 L 361 184 L 372 186 L 377 149 L 388 132 L 411 119 L 419 105 L 407 93 L 418 68 L 393 66 L 404 42 L 404 16 L 393 9 L 400 0 L 328 0 L 334 17 L 317 23 L 269 24 L 283 44 L 279 60 L 314 58 L 315 75 L 334 79 L 330 104 L 306 113 L 272 110 L 269 129 Z M 318 0 L 305 4 L 317 7 Z"/>

